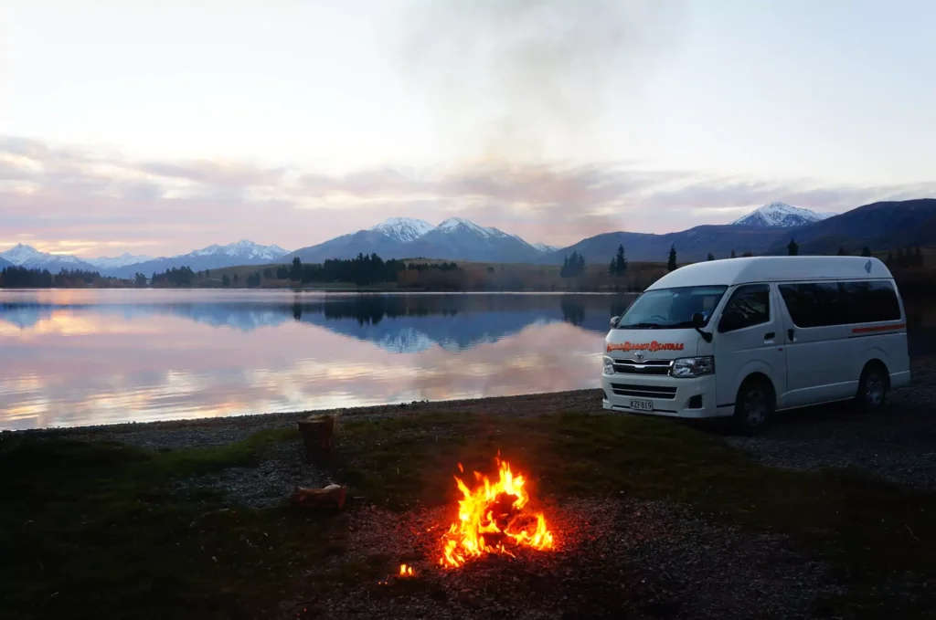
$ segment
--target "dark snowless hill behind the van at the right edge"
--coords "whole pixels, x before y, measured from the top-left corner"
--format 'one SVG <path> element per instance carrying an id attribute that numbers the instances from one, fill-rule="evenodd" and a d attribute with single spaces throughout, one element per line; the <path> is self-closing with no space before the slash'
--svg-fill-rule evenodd
<path id="1" fill-rule="evenodd" d="M 936 198 L 858 207 L 799 228 L 792 235 L 787 231 L 768 252 L 786 252 L 791 236 L 799 244 L 799 252 L 807 254 L 835 253 L 840 247 L 857 253 L 865 246 L 876 252 L 936 245 Z"/>

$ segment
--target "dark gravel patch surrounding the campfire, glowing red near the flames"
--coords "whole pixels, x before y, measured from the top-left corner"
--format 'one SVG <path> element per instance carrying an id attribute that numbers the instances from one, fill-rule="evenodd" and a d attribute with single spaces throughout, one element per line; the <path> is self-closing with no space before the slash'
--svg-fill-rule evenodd
<path id="1" fill-rule="evenodd" d="M 543 510 L 556 549 L 480 558 L 460 569 L 437 563 L 451 508 L 355 512 L 348 552 L 329 569 L 380 567 L 387 576 L 292 601 L 283 617 L 808 618 L 814 598 L 837 593 L 826 567 L 781 536 L 615 497 Z M 415 576 L 397 576 L 401 563 Z"/>

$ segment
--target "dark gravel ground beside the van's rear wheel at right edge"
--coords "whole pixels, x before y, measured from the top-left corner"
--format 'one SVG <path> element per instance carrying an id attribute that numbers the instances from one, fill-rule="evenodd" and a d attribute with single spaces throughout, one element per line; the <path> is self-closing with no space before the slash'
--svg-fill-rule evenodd
<path id="1" fill-rule="evenodd" d="M 850 404 L 791 411 L 764 435 L 724 439 L 772 467 L 853 467 L 936 490 L 936 362 L 914 361 L 913 383 L 889 395 L 885 411 L 865 414 Z"/>

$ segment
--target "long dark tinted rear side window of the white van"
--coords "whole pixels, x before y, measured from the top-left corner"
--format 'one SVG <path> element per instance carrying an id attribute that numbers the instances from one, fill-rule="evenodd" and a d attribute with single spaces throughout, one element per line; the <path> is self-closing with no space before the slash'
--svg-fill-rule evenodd
<path id="1" fill-rule="evenodd" d="M 780 295 L 797 327 L 898 321 L 900 305 L 888 281 L 781 284 Z"/>

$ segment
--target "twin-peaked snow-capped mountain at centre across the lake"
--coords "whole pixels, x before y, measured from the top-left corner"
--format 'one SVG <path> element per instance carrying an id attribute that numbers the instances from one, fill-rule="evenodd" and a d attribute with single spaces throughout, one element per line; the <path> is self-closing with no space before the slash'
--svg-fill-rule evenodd
<path id="1" fill-rule="evenodd" d="M 382 258 L 437 258 L 476 262 L 523 263 L 543 252 L 516 235 L 451 217 L 438 226 L 422 220 L 390 218 L 373 228 L 329 239 L 285 257 L 298 256 L 304 263 L 329 258 L 353 258 L 358 253 L 377 253 Z"/>

